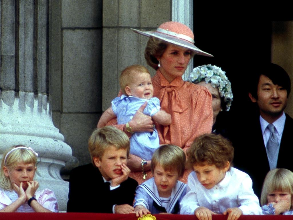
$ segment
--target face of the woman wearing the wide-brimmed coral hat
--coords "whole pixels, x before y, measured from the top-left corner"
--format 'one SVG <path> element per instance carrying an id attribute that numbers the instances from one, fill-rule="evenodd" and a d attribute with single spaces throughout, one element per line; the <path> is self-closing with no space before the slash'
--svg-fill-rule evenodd
<path id="1" fill-rule="evenodd" d="M 190 53 L 186 48 L 168 44 L 162 56 L 157 57 L 161 65 L 159 70 L 168 82 L 183 75 L 190 60 Z"/>

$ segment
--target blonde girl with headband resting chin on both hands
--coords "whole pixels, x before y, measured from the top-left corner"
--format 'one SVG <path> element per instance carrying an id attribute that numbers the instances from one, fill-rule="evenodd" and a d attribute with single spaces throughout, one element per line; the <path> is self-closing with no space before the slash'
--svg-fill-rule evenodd
<path id="1" fill-rule="evenodd" d="M 12 146 L 3 155 L 0 170 L 0 212 L 58 212 L 50 189 L 37 191 L 34 181 L 38 154 L 24 145 Z"/>

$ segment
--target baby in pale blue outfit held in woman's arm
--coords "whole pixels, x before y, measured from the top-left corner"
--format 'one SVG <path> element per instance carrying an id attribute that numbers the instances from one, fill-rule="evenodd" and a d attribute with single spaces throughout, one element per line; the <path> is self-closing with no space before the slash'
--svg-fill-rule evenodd
<path id="1" fill-rule="evenodd" d="M 154 88 L 149 71 L 141 65 L 132 65 L 122 71 L 120 87 L 123 95 L 112 100 L 112 106 L 101 116 L 98 127 L 105 126 L 111 119 L 117 117 L 118 124 L 126 124 L 127 131 L 132 133 L 128 122 L 137 110 L 147 102 L 143 113 L 152 117 L 157 123 L 168 126 L 171 124 L 171 115 L 160 110 L 160 101 L 153 97 Z M 144 160 L 151 157 L 159 147 L 158 131 L 135 132 L 130 138 L 130 154 Z"/>

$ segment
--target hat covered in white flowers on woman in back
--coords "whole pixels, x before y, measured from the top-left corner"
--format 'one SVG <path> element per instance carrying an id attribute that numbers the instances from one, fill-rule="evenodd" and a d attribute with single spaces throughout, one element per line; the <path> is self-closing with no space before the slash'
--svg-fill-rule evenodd
<path id="1" fill-rule="evenodd" d="M 226 103 L 226 111 L 230 110 L 233 101 L 231 82 L 225 75 L 225 71 L 221 67 L 215 65 L 202 65 L 195 67 L 188 77 L 189 82 L 197 84 L 203 80 L 205 83 L 211 83 L 212 87 L 219 89 L 219 94 Z"/>

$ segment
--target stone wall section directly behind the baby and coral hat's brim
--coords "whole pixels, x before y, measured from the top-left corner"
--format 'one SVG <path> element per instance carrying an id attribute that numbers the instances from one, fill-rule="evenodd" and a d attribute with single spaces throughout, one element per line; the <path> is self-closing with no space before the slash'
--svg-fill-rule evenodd
<path id="1" fill-rule="evenodd" d="M 171 21 L 171 7 L 171 0 L 103 1 L 103 110 L 117 96 L 117 79 L 125 67 L 140 64 L 155 73 L 144 59 L 148 38 L 130 28 L 156 30 Z"/>

